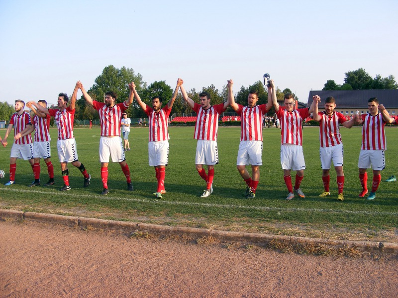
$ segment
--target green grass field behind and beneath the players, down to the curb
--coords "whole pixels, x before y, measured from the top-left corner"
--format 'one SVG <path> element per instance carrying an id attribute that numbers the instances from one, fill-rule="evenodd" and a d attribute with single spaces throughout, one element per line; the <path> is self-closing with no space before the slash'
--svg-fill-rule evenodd
<path id="1" fill-rule="evenodd" d="M 382 179 L 398 174 L 398 128 L 388 127 L 386 136 L 386 169 Z M 336 173 L 331 170 L 331 196 L 320 198 L 323 191 L 319 161 L 318 128 L 303 130 L 303 150 L 306 163 L 301 189 L 305 199 L 286 201 L 288 194 L 280 164 L 280 130 L 264 129 L 263 166 L 256 197 L 243 196 L 245 184 L 236 170 L 240 128 L 221 127 L 218 132 L 220 163 L 215 166 L 214 192 L 205 199 L 199 196 L 205 183 L 195 169 L 196 140 L 194 128 L 170 128 L 169 165 L 166 169 L 166 190 L 163 200 L 152 195 L 156 190 L 155 171 L 148 165 L 148 128 L 132 128 L 131 151 L 126 152 L 132 171 L 134 192 L 126 190 L 125 177 L 118 163 L 109 164 L 109 194 L 100 193 L 100 162 L 98 155 L 100 129 L 76 128 L 79 160 L 84 163 L 92 181 L 83 188 L 80 171 L 69 166 L 72 190 L 59 192 L 63 186 L 56 149 L 56 128 L 51 129 L 52 160 L 56 184 L 51 187 L 27 187 L 33 181 L 30 164 L 17 161 L 16 183 L 8 181 L 11 145 L 0 148 L 0 168 L 7 174 L 1 180 L 0 208 L 36 211 L 74 216 L 89 216 L 122 221 L 185 225 L 235 231 L 278 233 L 311 237 L 344 239 L 391 240 L 398 237 L 398 182 L 381 182 L 376 200 L 358 198 L 358 155 L 361 128 L 342 128 L 344 143 L 345 187 L 343 202 L 337 201 Z M 3 136 L 5 130 L 0 130 Z M 11 142 L 9 142 L 11 143 Z M 41 161 L 41 180 L 48 180 Z M 293 172 L 293 182 L 294 182 Z M 372 172 L 368 170 L 368 187 Z M 394 242 L 394 241 L 393 241 Z"/>

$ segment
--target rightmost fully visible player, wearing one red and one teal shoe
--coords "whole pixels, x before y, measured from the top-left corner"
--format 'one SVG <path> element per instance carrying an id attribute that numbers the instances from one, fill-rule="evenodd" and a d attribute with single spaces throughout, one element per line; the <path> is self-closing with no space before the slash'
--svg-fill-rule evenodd
<path id="1" fill-rule="evenodd" d="M 382 113 L 379 113 L 380 111 Z M 381 171 L 386 167 L 384 160 L 384 150 L 387 149 L 386 135 L 384 126 L 386 123 L 392 123 L 393 119 L 385 110 L 383 105 L 379 106 L 379 100 L 372 97 L 368 100 L 368 114 L 355 115 L 357 122 L 362 126 L 362 146 L 359 153 L 358 168 L 359 181 L 362 185 L 362 191 L 358 195 L 364 197 L 368 193 L 368 174 L 366 169 L 373 169 L 372 190 L 368 195 L 368 200 L 376 198 L 376 191 L 382 180 Z"/>

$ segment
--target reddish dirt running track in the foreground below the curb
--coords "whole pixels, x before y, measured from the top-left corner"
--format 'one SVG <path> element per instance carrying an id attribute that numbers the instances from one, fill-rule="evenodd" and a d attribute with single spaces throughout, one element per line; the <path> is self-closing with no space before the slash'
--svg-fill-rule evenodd
<path id="1" fill-rule="evenodd" d="M 0 297 L 397 297 L 398 260 L 0 223 Z"/>

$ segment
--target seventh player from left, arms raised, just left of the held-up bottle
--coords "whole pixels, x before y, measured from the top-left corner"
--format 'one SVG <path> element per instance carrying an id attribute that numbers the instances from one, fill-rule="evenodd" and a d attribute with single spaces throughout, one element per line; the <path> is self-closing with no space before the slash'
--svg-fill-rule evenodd
<path id="1" fill-rule="evenodd" d="M 256 105 L 258 101 L 258 92 L 250 90 L 247 97 L 248 106 L 244 107 L 235 102 L 233 91 L 233 80 L 228 80 L 228 102 L 232 109 L 240 116 L 240 144 L 238 150 L 238 158 L 236 168 L 243 180 L 246 182 L 245 196 L 248 199 L 255 197 L 257 185 L 260 180 L 260 165 L 263 164 L 263 117 L 272 107 L 271 97 L 275 96 L 274 81 L 271 80 L 268 87 L 268 103 Z M 246 169 L 246 165 L 250 164 L 252 168 L 252 176 Z"/>

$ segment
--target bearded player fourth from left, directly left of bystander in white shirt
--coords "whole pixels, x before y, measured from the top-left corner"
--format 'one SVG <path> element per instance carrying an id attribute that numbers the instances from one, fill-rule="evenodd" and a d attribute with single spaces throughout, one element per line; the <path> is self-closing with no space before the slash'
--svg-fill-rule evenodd
<path id="1" fill-rule="evenodd" d="M 83 87 L 81 81 L 76 85 L 82 90 L 84 99 L 93 106 L 100 114 L 101 124 L 101 138 L 100 138 L 100 162 L 101 162 L 101 180 L 102 180 L 102 195 L 107 195 L 108 190 L 108 164 L 109 155 L 113 162 L 119 162 L 124 176 L 127 180 L 127 190 L 132 191 L 133 185 L 131 183 L 130 169 L 126 162 L 123 145 L 120 138 L 120 123 L 124 111 L 133 102 L 133 92 L 131 83 L 129 84 L 130 94 L 128 99 L 122 103 L 116 104 L 117 95 L 113 91 L 105 93 L 105 102 L 93 100 Z M 125 114 L 125 113 L 124 113 Z"/>

